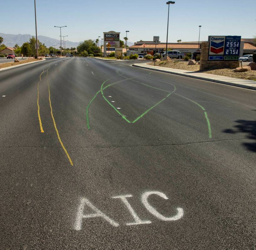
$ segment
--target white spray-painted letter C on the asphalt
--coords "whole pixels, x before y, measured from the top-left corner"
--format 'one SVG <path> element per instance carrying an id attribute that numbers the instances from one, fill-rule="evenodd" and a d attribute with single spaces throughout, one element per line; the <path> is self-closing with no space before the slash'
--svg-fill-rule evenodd
<path id="1" fill-rule="evenodd" d="M 159 212 L 156 211 L 156 209 L 151 206 L 148 202 L 148 197 L 150 195 L 158 195 L 162 198 L 164 198 L 165 200 L 168 200 L 168 197 L 164 194 L 164 193 L 161 193 L 159 191 L 149 191 L 149 192 L 144 192 L 142 195 L 141 195 L 141 203 L 144 205 L 144 207 L 150 212 L 152 213 L 156 218 L 158 218 L 159 220 L 161 221 L 176 221 L 176 220 L 179 220 L 184 212 L 183 212 L 183 209 L 178 207 L 177 208 L 177 214 L 175 216 L 172 216 L 172 217 L 165 217 L 163 216 L 162 214 L 160 214 Z"/>

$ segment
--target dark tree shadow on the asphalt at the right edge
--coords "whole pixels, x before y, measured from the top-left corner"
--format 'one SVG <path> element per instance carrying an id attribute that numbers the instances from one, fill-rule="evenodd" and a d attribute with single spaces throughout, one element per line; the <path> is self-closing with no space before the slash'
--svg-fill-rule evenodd
<path id="1" fill-rule="evenodd" d="M 247 138 L 253 140 L 252 142 L 243 143 L 243 145 L 250 151 L 256 152 L 256 120 L 236 120 L 238 125 L 235 125 L 235 129 L 223 130 L 225 133 L 236 134 L 243 133 L 247 134 Z"/>

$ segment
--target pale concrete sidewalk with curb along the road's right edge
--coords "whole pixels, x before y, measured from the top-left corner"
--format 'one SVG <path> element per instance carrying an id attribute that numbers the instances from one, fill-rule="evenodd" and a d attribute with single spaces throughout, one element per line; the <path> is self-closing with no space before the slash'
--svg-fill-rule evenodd
<path id="1" fill-rule="evenodd" d="M 148 65 L 146 63 L 144 64 L 133 64 L 134 67 L 142 68 L 142 69 L 151 69 L 156 70 L 160 72 L 165 72 L 169 74 L 175 74 L 180 76 L 186 76 L 191 77 L 195 79 L 215 82 L 215 83 L 221 83 L 221 84 L 227 84 L 231 86 L 241 87 L 245 89 L 253 89 L 256 90 L 256 81 L 252 80 L 244 80 L 234 77 L 227 77 L 227 76 L 221 76 L 221 75 L 213 75 L 213 74 L 206 74 L 206 73 L 197 73 L 194 71 L 187 71 L 182 69 L 171 69 L 171 68 L 164 68 L 159 66 L 153 66 Z"/>

